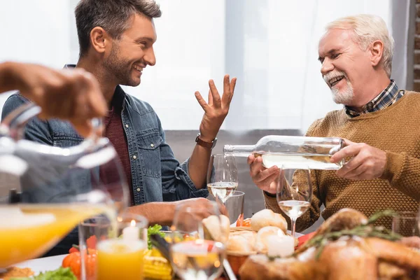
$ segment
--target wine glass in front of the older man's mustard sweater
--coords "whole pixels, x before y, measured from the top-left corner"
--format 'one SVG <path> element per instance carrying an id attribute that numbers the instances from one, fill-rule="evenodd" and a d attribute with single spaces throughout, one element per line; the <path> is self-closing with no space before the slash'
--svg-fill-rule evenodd
<path id="1" fill-rule="evenodd" d="M 295 237 L 296 220 L 311 206 L 311 171 L 307 169 L 280 168 L 276 199 L 281 211 L 289 216 L 292 237 Z"/>

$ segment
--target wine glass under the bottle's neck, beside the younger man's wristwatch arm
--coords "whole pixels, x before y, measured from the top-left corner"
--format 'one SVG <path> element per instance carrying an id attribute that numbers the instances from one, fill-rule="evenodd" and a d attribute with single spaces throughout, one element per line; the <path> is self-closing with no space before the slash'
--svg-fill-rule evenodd
<path id="1" fill-rule="evenodd" d="M 233 155 L 211 155 L 207 170 L 207 189 L 225 204 L 238 187 L 238 170 Z"/>

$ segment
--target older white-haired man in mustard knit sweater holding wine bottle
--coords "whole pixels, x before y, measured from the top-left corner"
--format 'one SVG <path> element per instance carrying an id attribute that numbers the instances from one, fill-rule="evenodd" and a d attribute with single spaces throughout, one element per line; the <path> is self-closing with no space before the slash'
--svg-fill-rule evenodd
<path id="1" fill-rule="evenodd" d="M 381 209 L 418 211 L 420 200 L 420 94 L 398 89 L 391 77 L 393 38 L 384 20 L 356 15 L 331 22 L 318 45 L 321 73 L 339 111 L 316 120 L 310 137 L 342 137 L 346 147 L 332 162 L 351 158 L 337 172 L 315 171 L 311 208 L 297 219 L 304 230 L 320 215 L 350 207 L 367 216 Z M 254 183 L 264 190 L 266 207 L 276 204 L 276 167 L 248 158 Z M 391 219 L 379 221 L 391 228 Z"/>

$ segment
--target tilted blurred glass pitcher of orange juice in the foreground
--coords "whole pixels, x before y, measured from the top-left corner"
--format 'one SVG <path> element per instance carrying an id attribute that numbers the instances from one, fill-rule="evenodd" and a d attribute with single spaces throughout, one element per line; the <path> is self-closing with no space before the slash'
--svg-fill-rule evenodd
<path id="1" fill-rule="evenodd" d="M 55 136 L 55 146 L 20 139 L 39 111 L 27 104 L 0 125 L 0 267 L 42 255 L 86 218 L 104 214 L 116 223 L 128 205 L 108 139 L 80 139 L 71 148 L 59 148 L 68 141 L 64 135 Z"/>

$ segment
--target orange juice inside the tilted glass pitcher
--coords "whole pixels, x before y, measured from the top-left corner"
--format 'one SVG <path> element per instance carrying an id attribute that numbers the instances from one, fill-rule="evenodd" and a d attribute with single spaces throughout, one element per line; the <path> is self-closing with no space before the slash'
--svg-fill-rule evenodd
<path id="1" fill-rule="evenodd" d="M 113 210 L 101 204 L 0 206 L 0 267 L 40 256 L 80 221 L 102 213 Z"/>

